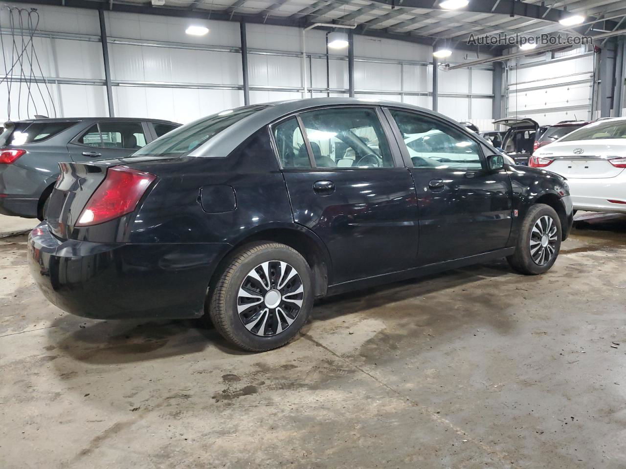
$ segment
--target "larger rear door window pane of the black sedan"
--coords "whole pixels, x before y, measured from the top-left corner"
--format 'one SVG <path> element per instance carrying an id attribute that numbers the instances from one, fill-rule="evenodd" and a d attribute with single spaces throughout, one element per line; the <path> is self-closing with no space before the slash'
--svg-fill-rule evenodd
<path id="1" fill-rule="evenodd" d="M 300 114 L 317 168 L 394 166 L 376 111 L 329 108 Z"/>

